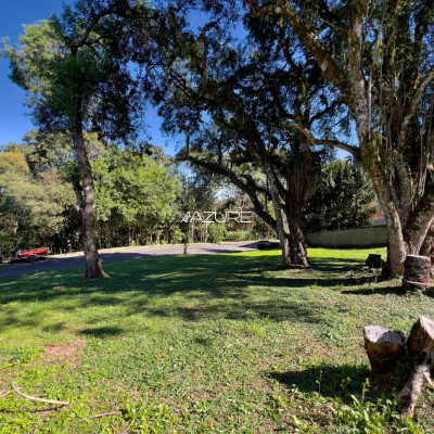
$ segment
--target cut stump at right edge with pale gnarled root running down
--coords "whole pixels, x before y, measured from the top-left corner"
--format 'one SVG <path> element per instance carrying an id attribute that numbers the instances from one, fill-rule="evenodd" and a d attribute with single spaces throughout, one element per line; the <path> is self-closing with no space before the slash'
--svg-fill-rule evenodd
<path id="1" fill-rule="evenodd" d="M 401 412 L 411 418 L 423 384 L 427 383 L 434 388 L 431 379 L 434 365 L 434 321 L 420 317 L 413 324 L 407 341 L 407 356 L 414 362 L 414 371 L 396 396 L 396 400 L 404 400 Z"/>

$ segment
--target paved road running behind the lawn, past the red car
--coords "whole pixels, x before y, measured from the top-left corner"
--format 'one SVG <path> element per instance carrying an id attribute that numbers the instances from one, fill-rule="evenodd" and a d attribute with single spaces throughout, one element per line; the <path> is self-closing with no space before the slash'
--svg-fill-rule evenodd
<path id="1" fill-rule="evenodd" d="M 222 244 L 192 244 L 189 254 L 214 255 L 216 253 L 235 253 L 256 250 L 254 242 L 222 243 Z M 104 264 L 119 260 L 142 259 L 156 256 L 177 256 L 183 253 L 182 245 L 158 245 L 143 247 L 119 247 L 100 251 Z M 64 268 L 85 267 L 82 253 L 53 255 L 36 263 L 1 264 L 0 278 L 10 278 L 22 275 L 34 275 L 47 270 L 61 270 Z"/>

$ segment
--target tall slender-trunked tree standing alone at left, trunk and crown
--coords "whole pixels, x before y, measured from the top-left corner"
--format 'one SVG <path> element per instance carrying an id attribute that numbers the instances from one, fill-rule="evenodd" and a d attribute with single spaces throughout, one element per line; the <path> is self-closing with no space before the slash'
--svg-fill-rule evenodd
<path id="1" fill-rule="evenodd" d="M 135 103 L 127 58 L 118 43 L 130 11 L 128 0 L 79 0 L 61 17 L 25 26 L 16 49 L 5 43 L 11 79 L 23 87 L 36 123 L 67 131 L 81 184 L 85 278 L 105 276 L 97 248 L 95 194 L 84 130 L 126 138 Z"/>

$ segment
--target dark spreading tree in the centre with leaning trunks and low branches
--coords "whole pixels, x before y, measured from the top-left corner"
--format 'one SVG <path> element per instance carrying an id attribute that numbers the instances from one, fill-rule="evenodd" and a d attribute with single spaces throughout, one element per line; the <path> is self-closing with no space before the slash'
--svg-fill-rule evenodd
<path id="1" fill-rule="evenodd" d="M 279 33 L 260 33 L 258 23 L 251 23 L 259 41 L 237 44 L 219 18 L 209 18 L 197 34 L 186 28 L 186 21 L 168 10 L 164 35 L 171 38 L 164 43 L 167 58 L 161 59 L 166 75 L 154 89 L 165 128 L 186 135 L 181 158 L 229 178 L 250 195 L 257 215 L 276 229 L 284 264 L 307 265 L 301 209 L 316 158 L 305 135 L 291 124 L 311 126 L 339 104 L 326 98 L 309 107 L 322 90 L 317 67 L 294 61 L 296 48 L 290 42 L 282 55 Z M 267 188 L 252 177 L 256 169 Z M 269 197 L 272 215 L 258 194 Z"/>

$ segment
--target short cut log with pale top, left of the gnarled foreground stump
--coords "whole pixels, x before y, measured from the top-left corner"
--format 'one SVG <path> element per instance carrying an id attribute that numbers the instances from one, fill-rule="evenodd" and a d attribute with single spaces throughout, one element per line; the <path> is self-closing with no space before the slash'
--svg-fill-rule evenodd
<path id="1" fill-rule="evenodd" d="M 387 372 L 405 350 L 404 333 L 383 329 L 380 326 L 363 328 L 365 349 L 367 350 L 372 371 Z"/>

